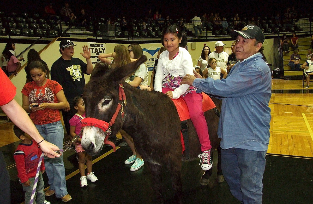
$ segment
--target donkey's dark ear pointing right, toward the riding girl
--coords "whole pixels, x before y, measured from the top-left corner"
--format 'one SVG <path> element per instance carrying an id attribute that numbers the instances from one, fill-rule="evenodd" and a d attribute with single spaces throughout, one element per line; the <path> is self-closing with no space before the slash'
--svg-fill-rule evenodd
<path id="1" fill-rule="evenodd" d="M 131 73 L 134 73 L 136 69 L 144 62 L 147 61 L 147 57 L 145 55 L 141 56 L 135 62 L 131 62 L 126 64 L 123 67 L 115 68 L 113 72 L 110 73 L 110 78 L 115 81 L 121 81 L 124 77 L 129 76 Z"/>

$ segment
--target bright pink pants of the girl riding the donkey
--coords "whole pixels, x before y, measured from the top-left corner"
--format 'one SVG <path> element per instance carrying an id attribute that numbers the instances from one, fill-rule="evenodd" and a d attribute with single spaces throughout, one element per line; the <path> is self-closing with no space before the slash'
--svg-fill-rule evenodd
<path id="1" fill-rule="evenodd" d="M 162 93 L 165 94 L 167 91 L 173 91 L 173 89 L 162 88 Z M 202 110 L 202 94 L 198 94 L 196 91 L 192 91 L 192 94 L 186 94 L 185 96 L 181 97 L 186 102 L 188 110 L 192 110 L 189 111 L 189 115 L 198 134 L 201 144 L 201 151 L 203 152 L 211 149 L 212 147 L 209 138 L 208 125 L 205 121 Z"/>

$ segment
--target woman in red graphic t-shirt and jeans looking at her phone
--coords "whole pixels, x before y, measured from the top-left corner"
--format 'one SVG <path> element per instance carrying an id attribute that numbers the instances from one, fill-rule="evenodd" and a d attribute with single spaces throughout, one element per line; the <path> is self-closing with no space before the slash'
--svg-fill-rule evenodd
<path id="1" fill-rule="evenodd" d="M 45 140 L 63 148 L 64 130 L 59 109 L 68 108 L 62 86 L 46 78 L 46 68 L 41 61 L 29 63 L 28 69 L 33 81 L 23 87 L 23 108 L 30 112 L 30 118 Z M 45 157 L 45 167 L 49 178 L 48 195 L 55 193 L 63 201 L 71 199 L 65 182 L 63 156 L 59 158 Z"/>

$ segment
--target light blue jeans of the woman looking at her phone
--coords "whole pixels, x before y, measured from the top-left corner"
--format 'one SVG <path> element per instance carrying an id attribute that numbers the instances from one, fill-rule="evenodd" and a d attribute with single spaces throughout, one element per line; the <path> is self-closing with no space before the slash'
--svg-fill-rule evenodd
<path id="1" fill-rule="evenodd" d="M 45 140 L 63 148 L 64 130 L 61 121 L 35 126 Z M 63 155 L 59 158 L 44 157 L 44 165 L 49 179 L 49 190 L 54 190 L 57 198 L 67 195 Z"/>

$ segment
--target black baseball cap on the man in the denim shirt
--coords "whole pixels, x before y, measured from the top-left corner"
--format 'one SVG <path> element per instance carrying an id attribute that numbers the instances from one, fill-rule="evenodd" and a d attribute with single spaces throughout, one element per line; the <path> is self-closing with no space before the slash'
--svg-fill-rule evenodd
<path id="1" fill-rule="evenodd" d="M 238 35 L 240 35 L 244 39 L 258 40 L 261 43 L 263 43 L 265 39 L 262 29 L 260 29 L 256 25 L 251 25 L 251 24 L 244 26 L 243 29 L 241 29 L 240 31 L 234 30 L 230 33 L 230 36 L 233 39 L 236 39 Z"/>

